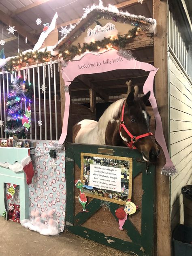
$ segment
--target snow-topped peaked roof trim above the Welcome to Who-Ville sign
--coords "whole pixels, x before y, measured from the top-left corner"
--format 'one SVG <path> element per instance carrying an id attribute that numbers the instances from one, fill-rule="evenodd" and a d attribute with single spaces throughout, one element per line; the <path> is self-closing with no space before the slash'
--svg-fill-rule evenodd
<path id="1" fill-rule="evenodd" d="M 152 18 L 146 18 L 141 15 L 134 15 L 128 12 L 119 11 L 116 6 L 109 4 L 107 7 L 102 5 L 100 0 L 99 5 L 93 4 L 91 7 L 87 6 L 84 9 L 85 12 L 81 19 L 75 24 L 70 25 L 66 28 L 66 34 L 58 41 L 53 50 L 58 49 L 59 46 L 63 45 L 69 38 L 77 38 L 82 32 L 85 31 L 96 19 L 100 19 L 101 16 L 105 19 L 112 19 L 121 23 L 129 23 L 133 26 L 138 26 L 143 30 L 149 30 L 149 32 L 156 33 L 156 20 Z M 80 29 L 83 27 L 83 30 Z"/>

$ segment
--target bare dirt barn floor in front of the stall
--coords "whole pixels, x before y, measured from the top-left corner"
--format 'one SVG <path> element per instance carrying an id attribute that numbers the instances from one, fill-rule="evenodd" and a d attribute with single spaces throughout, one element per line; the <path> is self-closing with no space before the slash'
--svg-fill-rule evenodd
<path id="1" fill-rule="evenodd" d="M 47 237 L 0 217 L 0 256 L 129 256 L 105 245 L 62 233 Z"/>

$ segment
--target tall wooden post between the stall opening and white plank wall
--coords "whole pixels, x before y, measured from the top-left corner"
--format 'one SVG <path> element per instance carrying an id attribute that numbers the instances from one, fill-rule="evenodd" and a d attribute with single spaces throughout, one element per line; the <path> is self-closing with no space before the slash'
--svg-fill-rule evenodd
<path id="1" fill-rule="evenodd" d="M 155 94 L 167 146 L 169 146 L 169 86 L 167 66 L 167 0 L 153 0 L 157 33 L 154 36 Z M 156 167 L 156 256 L 171 256 L 170 178 L 161 175 L 164 158 Z"/>

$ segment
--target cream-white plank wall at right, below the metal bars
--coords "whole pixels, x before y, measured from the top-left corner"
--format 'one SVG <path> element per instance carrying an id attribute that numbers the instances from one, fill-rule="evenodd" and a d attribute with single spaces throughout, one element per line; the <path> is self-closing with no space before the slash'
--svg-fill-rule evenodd
<path id="1" fill-rule="evenodd" d="M 172 230 L 183 224 L 181 188 L 192 184 L 192 82 L 183 73 L 173 55 L 169 58 L 170 80 L 170 152 L 177 175 L 171 177 Z"/>

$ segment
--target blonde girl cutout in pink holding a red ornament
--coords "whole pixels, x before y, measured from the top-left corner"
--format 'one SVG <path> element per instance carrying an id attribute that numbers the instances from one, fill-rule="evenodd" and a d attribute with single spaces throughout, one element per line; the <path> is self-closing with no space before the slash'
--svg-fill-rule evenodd
<path id="1" fill-rule="evenodd" d="M 123 207 L 118 208 L 115 211 L 115 215 L 117 217 L 117 219 L 119 220 L 119 229 L 123 230 L 123 225 L 125 223 L 125 221 L 127 220 L 127 215 L 131 215 L 133 213 L 135 213 L 138 209 L 138 206 L 136 206 L 134 203 L 128 201 L 126 203 L 125 208 L 123 209 Z"/>

